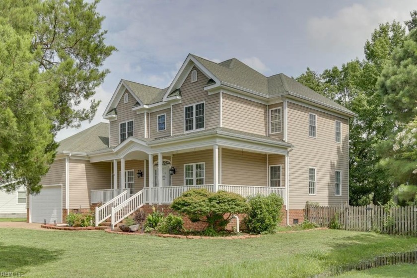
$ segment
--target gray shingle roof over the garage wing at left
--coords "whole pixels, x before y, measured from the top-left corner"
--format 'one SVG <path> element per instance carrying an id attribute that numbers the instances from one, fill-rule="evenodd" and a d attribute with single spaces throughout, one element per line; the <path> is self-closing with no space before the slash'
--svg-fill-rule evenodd
<path id="1" fill-rule="evenodd" d="M 109 124 L 98 123 L 59 142 L 57 153 L 92 152 L 109 147 Z"/>

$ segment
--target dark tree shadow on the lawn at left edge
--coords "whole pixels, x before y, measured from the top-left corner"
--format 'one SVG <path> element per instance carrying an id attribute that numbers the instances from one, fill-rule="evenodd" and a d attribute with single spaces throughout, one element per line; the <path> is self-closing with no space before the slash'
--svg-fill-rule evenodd
<path id="1" fill-rule="evenodd" d="M 0 244 L 0 272 L 23 272 L 23 268 L 58 260 L 60 250 Z"/>

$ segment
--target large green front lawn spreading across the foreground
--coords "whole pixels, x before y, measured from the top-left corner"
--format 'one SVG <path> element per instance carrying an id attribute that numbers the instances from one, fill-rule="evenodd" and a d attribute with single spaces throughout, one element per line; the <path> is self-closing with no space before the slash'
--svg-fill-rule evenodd
<path id="1" fill-rule="evenodd" d="M 25 277 L 308 277 L 417 249 L 417 238 L 315 230 L 245 240 L 0 229 L 0 272 Z"/>

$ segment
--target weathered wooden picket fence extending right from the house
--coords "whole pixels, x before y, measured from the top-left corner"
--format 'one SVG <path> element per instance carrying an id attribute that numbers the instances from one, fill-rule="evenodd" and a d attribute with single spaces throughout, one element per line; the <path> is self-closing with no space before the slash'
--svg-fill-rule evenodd
<path id="1" fill-rule="evenodd" d="M 368 205 L 352 207 L 306 205 L 308 221 L 321 227 L 328 227 L 334 219 L 340 229 L 349 231 L 379 231 L 387 234 L 417 236 L 417 207 L 393 207 L 385 209 L 381 206 Z"/>

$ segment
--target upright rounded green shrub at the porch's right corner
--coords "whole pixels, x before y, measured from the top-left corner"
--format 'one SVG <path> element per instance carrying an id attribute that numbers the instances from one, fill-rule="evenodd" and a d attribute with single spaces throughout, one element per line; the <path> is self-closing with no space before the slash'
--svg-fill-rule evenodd
<path id="1" fill-rule="evenodd" d="M 257 194 L 249 197 L 248 202 L 249 213 L 243 220 L 248 231 L 256 234 L 274 233 L 282 220 L 282 198 L 277 194 Z"/>

